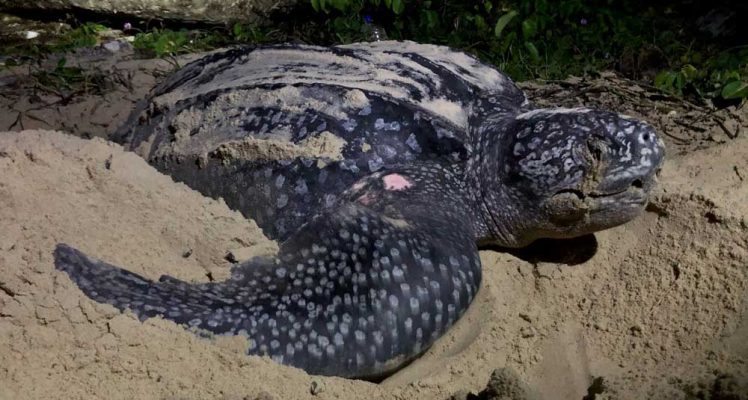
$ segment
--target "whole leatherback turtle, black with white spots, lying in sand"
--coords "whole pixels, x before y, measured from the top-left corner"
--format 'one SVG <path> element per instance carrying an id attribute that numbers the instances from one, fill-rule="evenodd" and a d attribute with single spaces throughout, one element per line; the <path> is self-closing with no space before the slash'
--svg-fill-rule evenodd
<path id="1" fill-rule="evenodd" d="M 244 47 L 158 86 L 116 140 L 222 197 L 280 243 L 223 282 L 154 282 L 59 245 L 90 298 L 220 335 L 309 373 L 372 378 L 453 325 L 477 244 L 524 246 L 631 220 L 664 157 L 644 122 L 534 109 L 445 47 Z"/>

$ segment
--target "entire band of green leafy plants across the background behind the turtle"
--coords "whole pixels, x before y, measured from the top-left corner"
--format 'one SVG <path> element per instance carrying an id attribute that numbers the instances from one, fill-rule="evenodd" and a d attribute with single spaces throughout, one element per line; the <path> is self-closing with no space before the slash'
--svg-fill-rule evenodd
<path id="1" fill-rule="evenodd" d="M 239 23 L 169 29 L 141 21 L 142 30 L 130 28 L 128 34 L 144 55 L 170 57 L 240 43 L 369 40 L 373 19 L 390 39 L 462 49 L 515 80 L 617 69 L 673 95 L 741 101 L 748 98 L 748 45 L 700 32 L 694 21 L 709 7 L 706 0 L 688 6 L 642 0 L 301 0 L 273 29 Z M 92 46 L 105 30 L 84 23 L 3 53 L 42 57 Z"/>

